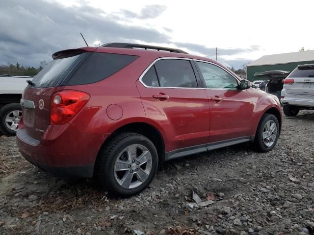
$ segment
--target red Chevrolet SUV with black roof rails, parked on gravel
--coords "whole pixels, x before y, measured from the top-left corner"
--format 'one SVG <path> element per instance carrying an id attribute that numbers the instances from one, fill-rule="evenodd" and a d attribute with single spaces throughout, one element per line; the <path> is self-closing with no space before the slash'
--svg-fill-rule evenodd
<path id="1" fill-rule="evenodd" d="M 146 188 L 160 162 L 241 142 L 271 150 L 276 96 L 182 50 L 106 44 L 56 52 L 24 91 L 22 155 L 119 196 Z"/>

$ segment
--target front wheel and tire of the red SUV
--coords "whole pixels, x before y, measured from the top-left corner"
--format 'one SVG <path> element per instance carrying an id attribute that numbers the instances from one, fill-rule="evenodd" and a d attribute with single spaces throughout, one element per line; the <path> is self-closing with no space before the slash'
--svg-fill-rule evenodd
<path id="1" fill-rule="evenodd" d="M 254 139 L 254 147 L 259 152 L 268 152 L 274 148 L 279 137 L 278 119 L 272 114 L 264 114 L 260 120 Z"/>

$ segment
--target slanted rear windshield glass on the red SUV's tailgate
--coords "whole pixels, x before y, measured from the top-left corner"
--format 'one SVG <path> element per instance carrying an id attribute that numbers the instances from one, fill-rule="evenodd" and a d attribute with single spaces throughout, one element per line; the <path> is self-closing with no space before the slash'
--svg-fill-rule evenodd
<path id="1" fill-rule="evenodd" d="M 66 57 L 62 59 L 54 59 L 42 71 L 40 71 L 34 79 L 35 86 L 28 88 L 54 87 L 60 81 L 62 75 L 69 67 L 78 59 L 80 55 Z"/>

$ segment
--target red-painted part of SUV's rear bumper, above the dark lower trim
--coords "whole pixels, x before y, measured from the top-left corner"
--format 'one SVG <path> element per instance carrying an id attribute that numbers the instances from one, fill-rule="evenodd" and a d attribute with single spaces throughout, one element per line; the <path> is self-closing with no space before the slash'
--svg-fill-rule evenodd
<path id="1" fill-rule="evenodd" d="M 81 134 L 67 123 L 48 126 L 38 145 L 21 140 L 17 134 L 17 144 L 23 156 L 36 165 L 90 165 L 95 163 L 95 156 L 108 136 Z"/>

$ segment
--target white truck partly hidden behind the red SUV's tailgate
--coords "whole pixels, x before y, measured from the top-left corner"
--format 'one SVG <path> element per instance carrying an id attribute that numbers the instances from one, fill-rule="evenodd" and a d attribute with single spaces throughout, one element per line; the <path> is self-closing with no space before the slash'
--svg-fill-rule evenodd
<path id="1" fill-rule="evenodd" d="M 27 86 L 28 76 L 0 75 L 0 132 L 13 136 L 22 118 L 20 100 Z"/>

